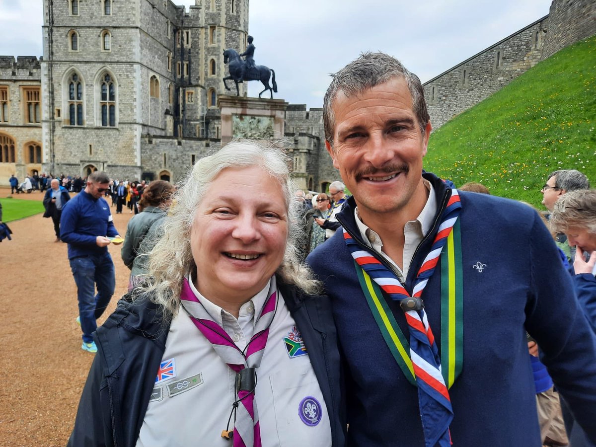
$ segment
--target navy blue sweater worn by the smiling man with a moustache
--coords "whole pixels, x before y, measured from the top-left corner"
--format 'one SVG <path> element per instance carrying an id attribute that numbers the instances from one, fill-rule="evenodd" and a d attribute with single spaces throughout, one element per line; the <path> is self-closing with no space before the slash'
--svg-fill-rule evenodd
<path id="1" fill-rule="evenodd" d="M 446 186 L 430 173 L 424 177 L 433 185 L 440 213 Z M 524 204 L 475 193 L 460 197 L 464 346 L 462 373 L 449 389 L 454 446 L 541 446 L 526 330 L 578 422 L 596 439 L 596 337 L 551 235 Z M 350 198 L 338 220 L 359 240 L 354 209 Z M 409 291 L 433 239 L 434 234 L 424 238 L 412 259 Z M 346 365 L 348 444 L 424 446 L 417 389 L 378 329 L 342 232 L 319 246 L 308 262 L 333 303 Z M 482 271 L 474 268 L 479 262 Z M 440 271 L 437 265 L 422 295 L 439 350 Z M 409 337 L 399 305 L 388 305 Z"/>

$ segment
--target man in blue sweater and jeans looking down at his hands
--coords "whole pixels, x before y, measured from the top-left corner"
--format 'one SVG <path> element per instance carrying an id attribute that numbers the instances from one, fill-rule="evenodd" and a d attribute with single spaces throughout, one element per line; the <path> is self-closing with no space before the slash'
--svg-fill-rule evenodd
<path id="1" fill-rule="evenodd" d="M 105 172 L 89 175 L 85 190 L 75 195 L 62 212 L 60 239 L 69 244 L 69 262 L 77 286 L 82 349 L 95 353 L 92 333 L 116 287 L 114 263 L 107 246 L 120 237 L 103 198 L 110 178 Z M 97 285 L 97 294 L 95 294 Z"/>

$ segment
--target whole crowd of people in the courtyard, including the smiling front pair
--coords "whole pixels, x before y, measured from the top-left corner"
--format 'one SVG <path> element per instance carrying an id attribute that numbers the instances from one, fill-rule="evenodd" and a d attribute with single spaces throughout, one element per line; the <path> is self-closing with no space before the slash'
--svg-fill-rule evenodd
<path id="1" fill-rule="evenodd" d="M 61 203 L 96 353 L 69 445 L 595 445 L 586 176 L 548 176 L 542 215 L 425 172 L 423 86 L 383 53 L 333 75 L 323 113 L 342 181 L 312 198 L 283 151 L 234 141 L 178 190 L 95 172 Z M 122 241 L 106 194 L 139 213 L 97 327 Z"/>

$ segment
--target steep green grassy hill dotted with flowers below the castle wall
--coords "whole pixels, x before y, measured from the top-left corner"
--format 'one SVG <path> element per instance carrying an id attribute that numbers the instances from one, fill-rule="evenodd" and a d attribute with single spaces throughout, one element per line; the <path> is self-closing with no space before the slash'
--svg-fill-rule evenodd
<path id="1" fill-rule="evenodd" d="M 424 168 L 540 206 L 548 173 L 596 187 L 596 36 L 564 48 L 433 132 Z"/>

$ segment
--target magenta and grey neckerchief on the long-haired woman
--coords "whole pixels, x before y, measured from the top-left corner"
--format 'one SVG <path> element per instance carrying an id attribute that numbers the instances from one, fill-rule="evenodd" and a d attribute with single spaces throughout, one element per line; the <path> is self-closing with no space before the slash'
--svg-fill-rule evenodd
<path id="1" fill-rule="evenodd" d="M 180 295 L 182 307 L 198 330 L 212 344 L 213 349 L 222 361 L 237 373 L 236 391 L 238 399 L 234 402 L 237 414 L 232 438 L 234 440 L 233 447 L 260 447 L 261 445 L 259 414 L 256 402 L 254 402 L 254 389 L 256 387 L 254 370 L 259 368 L 269 335 L 269 326 L 277 309 L 279 293 L 277 292 L 275 277 L 271 278 L 268 296 L 259 319 L 256 321 L 254 335 L 244 351 L 241 351 L 224 329 L 210 318 L 209 313 L 191 290 L 186 278 L 184 279 L 184 285 L 182 285 Z M 245 371 L 243 372 L 243 370 Z M 245 373 L 252 373 L 252 375 L 245 375 Z M 222 436 L 224 436 L 223 433 Z"/>

